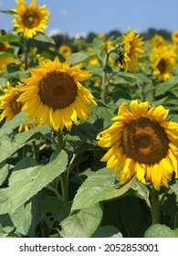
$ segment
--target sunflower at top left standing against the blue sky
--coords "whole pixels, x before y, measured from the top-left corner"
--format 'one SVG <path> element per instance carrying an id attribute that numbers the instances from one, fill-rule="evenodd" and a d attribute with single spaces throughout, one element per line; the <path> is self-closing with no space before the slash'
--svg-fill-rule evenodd
<path id="1" fill-rule="evenodd" d="M 42 32 L 47 28 L 49 12 L 46 10 L 46 5 L 37 6 L 37 0 L 32 0 L 29 6 L 25 0 L 16 0 L 16 18 L 13 23 L 16 27 L 16 32 L 24 33 L 24 37 L 32 38 L 37 35 L 37 32 Z"/>

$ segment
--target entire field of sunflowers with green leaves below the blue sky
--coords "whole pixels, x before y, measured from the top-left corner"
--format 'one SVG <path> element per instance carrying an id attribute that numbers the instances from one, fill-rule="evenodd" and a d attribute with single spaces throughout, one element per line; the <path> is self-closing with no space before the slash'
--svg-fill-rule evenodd
<path id="1" fill-rule="evenodd" d="M 177 238 L 178 31 L 58 47 L 46 5 L 2 12 L 0 237 Z"/>

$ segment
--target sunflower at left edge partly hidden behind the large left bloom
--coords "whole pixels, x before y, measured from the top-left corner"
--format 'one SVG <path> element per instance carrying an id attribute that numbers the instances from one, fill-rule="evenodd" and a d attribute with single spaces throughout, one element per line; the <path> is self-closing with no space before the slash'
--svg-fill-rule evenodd
<path id="1" fill-rule="evenodd" d="M 0 97 L 0 121 L 5 119 L 5 123 L 12 120 L 17 113 L 21 112 L 23 102 L 16 101 L 23 91 L 23 86 L 19 84 L 18 88 L 11 86 L 7 82 L 7 88 L 2 89 L 5 95 Z M 34 127 L 34 124 L 21 124 L 18 128 L 18 132 L 21 133 L 22 130 L 27 131 L 29 128 Z"/>

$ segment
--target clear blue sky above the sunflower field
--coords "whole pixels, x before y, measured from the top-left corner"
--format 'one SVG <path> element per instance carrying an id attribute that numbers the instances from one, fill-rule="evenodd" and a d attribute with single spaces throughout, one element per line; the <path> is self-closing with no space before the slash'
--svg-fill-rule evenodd
<path id="1" fill-rule="evenodd" d="M 31 0 L 26 0 L 29 5 Z M 178 0 L 37 0 L 47 5 L 50 20 L 47 34 L 55 32 L 78 36 L 89 32 L 137 32 L 148 28 L 178 30 Z M 15 0 L 0 0 L 0 10 L 15 8 Z M 0 28 L 9 31 L 14 16 L 0 13 Z"/>

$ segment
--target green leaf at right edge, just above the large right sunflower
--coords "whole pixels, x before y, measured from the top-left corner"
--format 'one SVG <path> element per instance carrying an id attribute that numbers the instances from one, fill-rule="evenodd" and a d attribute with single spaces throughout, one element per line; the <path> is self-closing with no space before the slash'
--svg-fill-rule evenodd
<path id="1" fill-rule="evenodd" d="M 178 76 L 175 76 L 169 80 L 165 80 L 159 84 L 156 90 L 156 96 L 164 94 L 166 91 L 175 89 L 178 86 Z"/>

